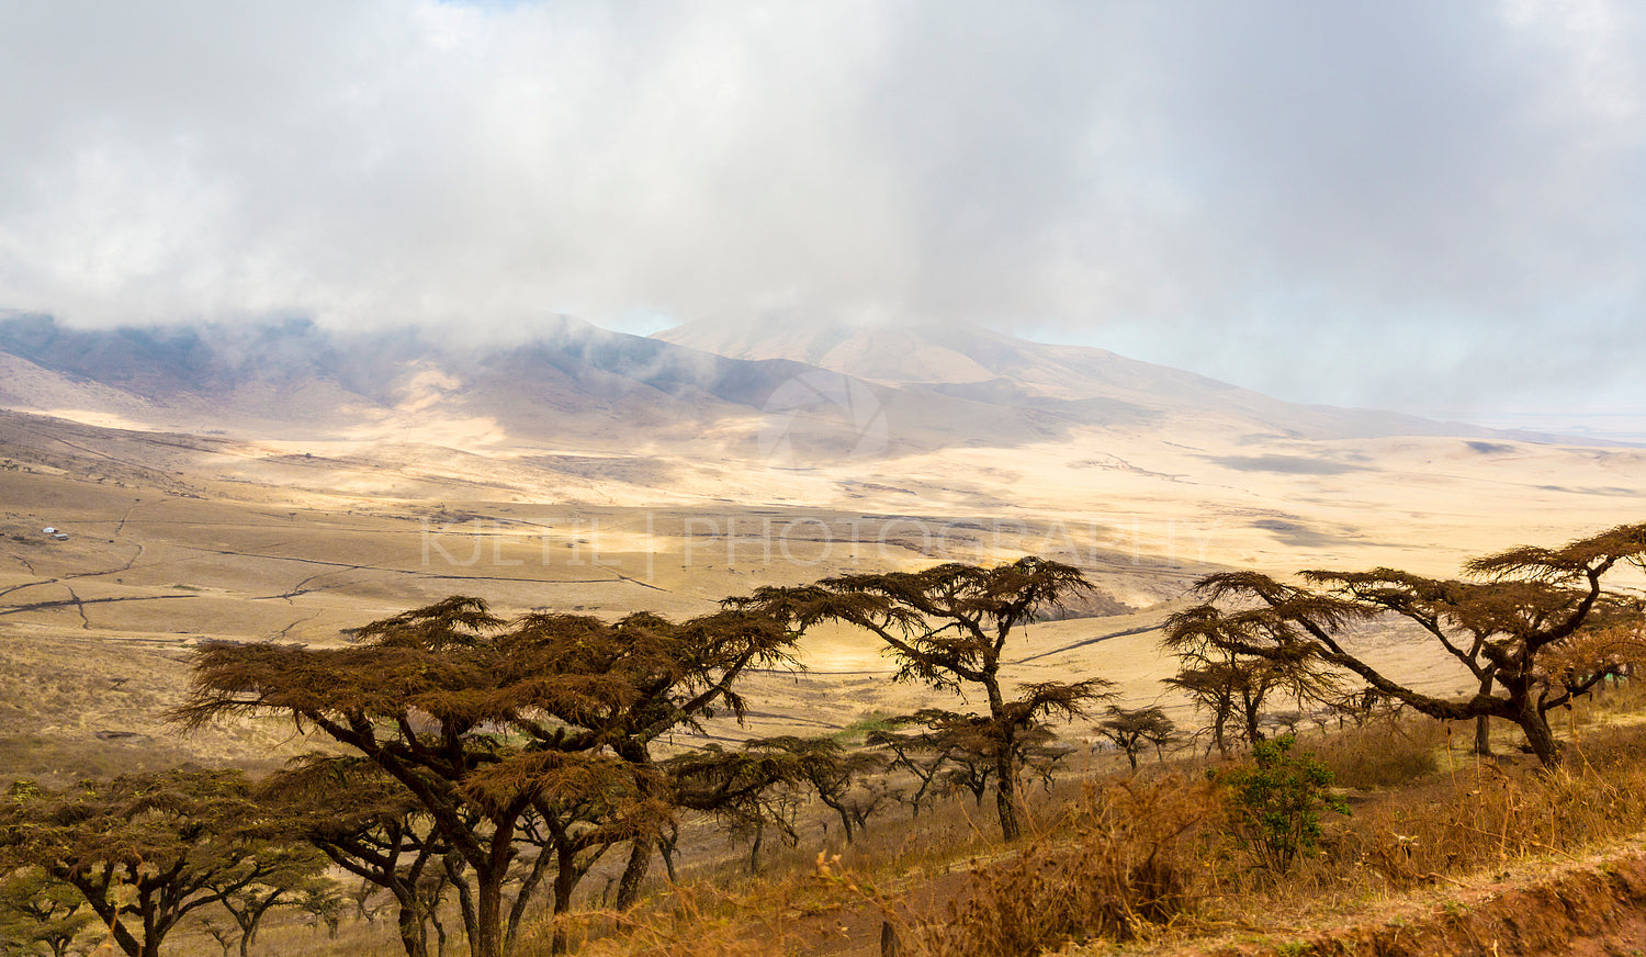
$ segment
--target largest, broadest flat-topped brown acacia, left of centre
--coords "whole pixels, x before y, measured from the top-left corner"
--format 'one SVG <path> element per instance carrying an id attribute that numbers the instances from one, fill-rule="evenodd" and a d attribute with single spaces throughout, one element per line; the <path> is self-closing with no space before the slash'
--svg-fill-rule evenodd
<path id="1" fill-rule="evenodd" d="M 624 886 L 637 888 L 672 814 L 652 741 L 718 707 L 741 717 L 739 675 L 790 661 L 795 637 L 756 609 L 505 623 L 453 596 L 362 628 L 352 647 L 206 646 L 174 718 L 283 713 L 377 764 L 467 868 L 472 957 L 504 957 L 510 917 L 535 889 L 528 880 L 505 901 L 532 829 L 574 815 L 579 832 L 630 842 Z"/>

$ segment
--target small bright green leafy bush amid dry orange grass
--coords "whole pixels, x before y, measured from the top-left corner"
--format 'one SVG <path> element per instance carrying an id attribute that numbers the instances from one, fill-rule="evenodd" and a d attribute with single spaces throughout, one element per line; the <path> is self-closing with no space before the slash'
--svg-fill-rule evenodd
<path id="1" fill-rule="evenodd" d="M 1234 840 L 1276 875 L 1320 847 L 1322 810 L 1348 814 L 1330 791 L 1332 771 L 1314 753 L 1294 754 L 1292 745 L 1292 735 L 1258 741 L 1251 764 L 1218 774 Z"/>

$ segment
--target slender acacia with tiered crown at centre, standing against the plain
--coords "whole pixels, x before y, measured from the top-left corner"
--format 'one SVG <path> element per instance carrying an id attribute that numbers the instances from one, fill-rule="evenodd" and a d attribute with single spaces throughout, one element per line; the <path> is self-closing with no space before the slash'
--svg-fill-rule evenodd
<path id="1" fill-rule="evenodd" d="M 986 748 L 994 774 L 1001 833 L 1014 840 L 1017 766 L 1022 736 L 1049 717 L 1075 718 L 1106 697 L 1109 682 L 1039 682 L 1007 698 L 1001 669 L 1019 624 L 1040 609 L 1090 590 L 1078 568 L 1045 558 L 1019 558 L 983 568 L 946 563 L 925 572 L 843 575 L 800 588 L 760 588 L 739 608 L 759 608 L 800 629 L 841 621 L 874 633 L 897 659 L 897 680 L 933 689 L 979 692 L 988 712 Z"/>

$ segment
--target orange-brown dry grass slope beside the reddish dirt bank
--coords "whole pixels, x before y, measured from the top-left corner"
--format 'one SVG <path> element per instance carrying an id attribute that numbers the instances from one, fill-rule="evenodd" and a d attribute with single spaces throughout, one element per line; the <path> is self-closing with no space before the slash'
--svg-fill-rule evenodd
<path id="1" fill-rule="evenodd" d="M 1513 756 L 1476 758 L 1472 728 L 1419 717 L 1310 735 L 1299 749 L 1374 791 L 1360 792 L 1351 817 L 1328 820 L 1322 852 L 1282 876 L 1246 865 L 1220 825 L 1207 763 L 1188 759 L 1062 786 L 1014 848 L 981 827 L 956 829 L 965 802 L 918 835 L 881 825 L 839 857 L 774 857 L 760 881 L 706 873 L 625 919 L 584 917 L 586 952 L 872 954 L 882 922 L 905 957 L 1030 955 L 1081 942 L 1167 952 L 1231 927 L 1284 937 L 1529 863 L 1579 861 L 1646 832 L 1643 697 L 1628 689 L 1579 703 L 1569 730 L 1580 736 L 1552 773 L 1501 736 Z M 818 944 L 821 924 L 843 934 Z"/>

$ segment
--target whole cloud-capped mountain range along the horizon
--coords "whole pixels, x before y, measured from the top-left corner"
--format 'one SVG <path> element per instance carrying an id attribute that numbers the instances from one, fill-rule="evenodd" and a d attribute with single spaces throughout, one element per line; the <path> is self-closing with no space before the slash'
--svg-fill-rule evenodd
<path id="1" fill-rule="evenodd" d="M 555 316 L 525 343 L 479 348 L 416 331 L 331 333 L 306 321 L 92 331 L 20 316 L 0 321 L 0 405 L 10 408 L 286 436 L 491 420 L 491 443 L 500 430 L 504 441 L 616 440 L 627 450 L 703 441 L 718 453 L 759 455 L 760 420 L 774 413 L 807 441 L 854 448 L 867 405 L 887 422 L 876 450 L 886 455 L 1091 428 L 1307 440 L 1493 435 L 1281 402 L 1103 349 L 965 324 L 681 326 L 644 338 Z"/>

